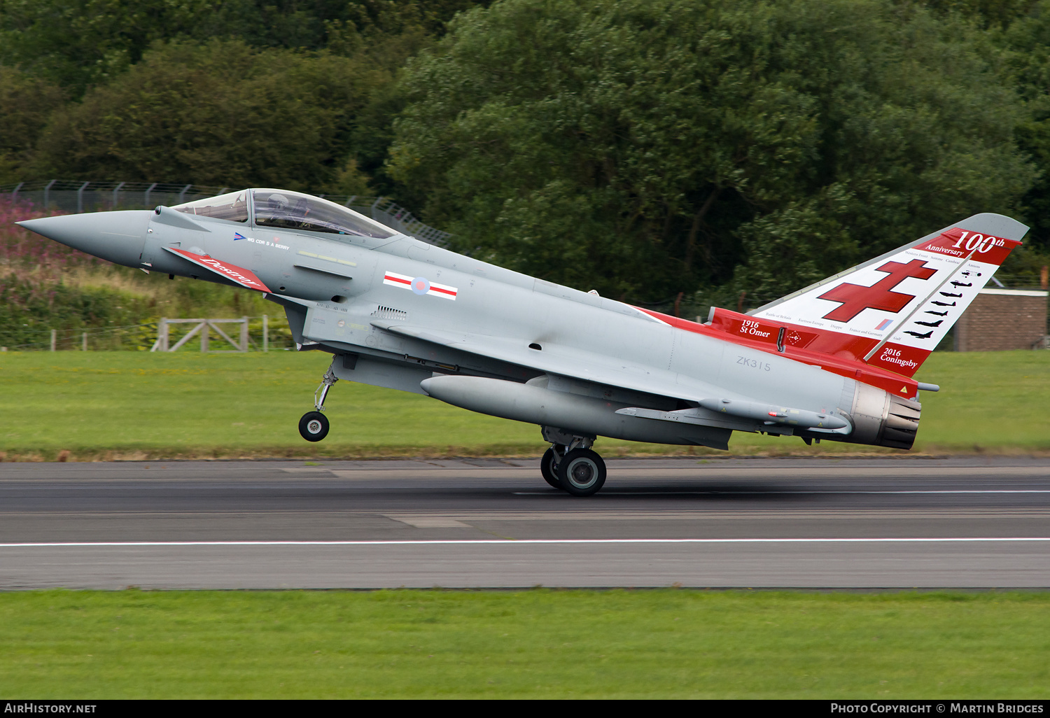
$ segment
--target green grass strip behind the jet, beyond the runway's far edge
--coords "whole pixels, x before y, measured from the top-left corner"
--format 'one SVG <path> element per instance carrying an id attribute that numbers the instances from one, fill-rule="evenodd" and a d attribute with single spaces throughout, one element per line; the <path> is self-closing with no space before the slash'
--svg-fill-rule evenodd
<path id="1" fill-rule="evenodd" d="M 339 382 L 332 432 L 296 429 L 329 356 L 319 352 L 0 353 L 0 459 L 70 460 L 539 456 L 536 426 L 485 417 L 420 395 Z M 916 449 L 932 453 L 1050 451 L 1050 352 L 933 354 Z M 737 432 L 734 455 L 899 453 L 892 449 Z M 601 439 L 607 456 L 719 455 Z"/>

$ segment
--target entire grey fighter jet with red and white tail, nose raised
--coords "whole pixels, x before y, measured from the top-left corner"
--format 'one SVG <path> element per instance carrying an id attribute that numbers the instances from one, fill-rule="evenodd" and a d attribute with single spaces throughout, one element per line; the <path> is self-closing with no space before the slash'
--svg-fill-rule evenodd
<path id="1" fill-rule="evenodd" d="M 687 321 L 495 267 L 318 197 L 250 189 L 19 223 L 127 267 L 264 292 L 339 379 L 538 424 L 543 478 L 602 488 L 596 437 L 729 448 L 733 431 L 910 448 L 912 375 L 1027 227 L 975 214 L 748 314 Z"/>

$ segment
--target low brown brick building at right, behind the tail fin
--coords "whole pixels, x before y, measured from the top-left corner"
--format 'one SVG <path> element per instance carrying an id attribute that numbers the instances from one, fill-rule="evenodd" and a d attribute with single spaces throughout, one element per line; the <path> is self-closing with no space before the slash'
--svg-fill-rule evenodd
<path id="1" fill-rule="evenodd" d="M 999 352 L 1038 345 L 1047 335 L 1047 294 L 981 290 L 956 324 L 956 351 Z"/>

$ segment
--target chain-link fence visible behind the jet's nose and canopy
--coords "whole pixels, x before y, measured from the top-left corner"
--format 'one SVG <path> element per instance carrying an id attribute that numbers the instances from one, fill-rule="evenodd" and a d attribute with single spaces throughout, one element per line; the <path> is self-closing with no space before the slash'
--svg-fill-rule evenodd
<path id="1" fill-rule="evenodd" d="M 83 182 L 79 180 L 42 180 L 0 186 L 0 194 L 13 200 L 32 202 L 44 210 L 60 212 L 102 212 L 114 209 L 153 209 L 170 207 L 194 199 L 223 194 L 236 187 L 209 187 L 164 182 Z M 432 245 L 443 246 L 448 232 L 430 227 L 390 197 L 366 197 L 356 194 L 320 194 L 314 196 L 348 207 L 355 212 L 381 221 L 391 229 Z"/>

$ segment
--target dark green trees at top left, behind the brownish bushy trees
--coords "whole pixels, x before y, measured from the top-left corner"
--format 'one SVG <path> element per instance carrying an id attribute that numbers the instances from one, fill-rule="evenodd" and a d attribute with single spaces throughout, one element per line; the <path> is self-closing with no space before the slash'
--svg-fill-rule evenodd
<path id="1" fill-rule="evenodd" d="M 440 34 L 470 0 L 0 0 L 0 64 L 20 66 L 80 97 L 140 62 L 159 41 L 212 38 L 257 47 L 390 52 Z"/>

